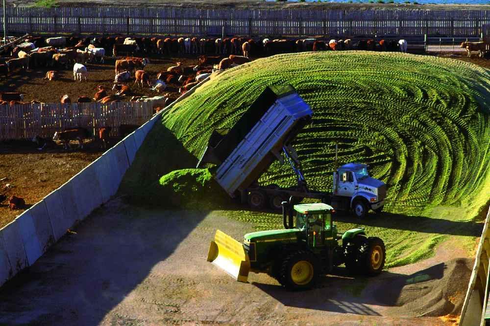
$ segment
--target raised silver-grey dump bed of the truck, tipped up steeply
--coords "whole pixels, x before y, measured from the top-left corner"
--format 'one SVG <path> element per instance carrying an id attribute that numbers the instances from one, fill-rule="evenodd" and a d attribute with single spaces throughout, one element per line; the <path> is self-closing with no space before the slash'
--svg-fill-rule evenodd
<path id="1" fill-rule="evenodd" d="M 290 85 L 268 87 L 261 96 L 264 93 L 268 94 L 267 98 L 264 100 L 264 98 L 261 99 L 259 96 L 261 103 L 256 105 L 254 102 L 250 107 L 252 109 L 257 106 L 254 116 L 258 116 L 257 111 L 265 110 L 263 104 L 267 102 L 271 104 L 263 115 L 258 116 L 258 120 L 248 132 L 245 133 L 244 130 L 246 131 L 246 128 L 242 128 L 243 138 L 241 140 L 237 139 L 237 135 L 240 133 L 233 127 L 222 138 L 221 142 L 218 142 L 216 147 L 214 147 L 214 156 L 217 161 L 220 160 L 220 155 L 222 157 L 223 153 L 227 153 L 225 147 L 219 151 L 223 140 L 227 141 L 226 149 L 228 152 L 231 150 L 218 167 L 215 179 L 232 197 L 237 194 L 237 191 L 244 190 L 250 186 L 269 168 L 274 160 L 281 157 L 283 146 L 288 145 L 294 139 L 296 134 L 310 121 L 313 114 L 310 106 L 303 101 L 294 87 Z M 273 102 L 271 102 L 271 96 L 274 98 Z M 245 115 L 249 112 L 250 110 Z M 252 114 L 249 114 L 249 116 L 252 116 Z M 244 123 L 241 119 L 237 124 L 242 127 L 246 124 L 250 126 L 250 122 L 248 120 L 247 123 Z M 228 137 L 232 132 L 234 132 L 232 137 Z M 219 136 L 216 134 L 214 136 L 216 141 Z M 233 142 L 237 144 L 234 147 Z M 203 154 L 204 156 L 206 156 L 206 153 Z"/>

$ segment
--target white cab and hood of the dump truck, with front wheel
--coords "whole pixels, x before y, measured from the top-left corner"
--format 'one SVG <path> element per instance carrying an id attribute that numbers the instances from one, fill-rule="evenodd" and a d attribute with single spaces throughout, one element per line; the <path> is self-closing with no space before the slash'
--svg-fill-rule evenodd
<path id="1" fill-rule="evenodd" d="M 333 195 L 334 198 L 341 197 L 336 200 L 339 206 L 346 206 L 348 203 L 356 216 L 365 217 L 369 209 L 375 213 L 383 210 L 386 184 L 369 176 L 368 165 L 348 163 L 334 172 Z"/>

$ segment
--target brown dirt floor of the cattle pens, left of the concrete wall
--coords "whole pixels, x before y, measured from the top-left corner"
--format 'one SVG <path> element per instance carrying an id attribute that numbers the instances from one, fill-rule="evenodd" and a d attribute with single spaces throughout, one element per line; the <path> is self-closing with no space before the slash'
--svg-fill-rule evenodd
<path id="1" fill-rule="evenodd" d="M 151 78 L 156 78 L 160 71 L 181 61 L 184 65 L 197 64 L 196 56 L 189 58 L 161 58 L 150 56 L 150 65 L 145 70 Z M 25 102 L 39 100 L 44 103 L 56 103 L 68 94 L 76 101 L 78 96 L 93 97 L 96 87 L 103 85 L 109 89 L 113 85 L 114 59 L 108 58 L 104 64 L 88 64 L 89 81 L 87 83 L 73 82 L 70 70 L 60 69 L 61 78 L 58 81 L 44 80 L 47 69 L 34 69 L 29 73 L 16 73 L 9 80 L 0 82 L 1 91 L 18 91 L 25 95 Z M 132 84 L 132 83 L 130 83 Z M 134 95 L 154 96 L 156 92 L 148 87 L 138 89 L 131 87 Z M 166 92 L 172 98 L 177 98 L 178 85 L 169 85 Z M 111 92 L 112 93 L 112 92 Z M 129 97 L 126 98 L 129 101 Z M 120 139 L 111 139 L 110 145 Z M 36 145 L 27 140 L 0 141 L 0 195 L 19 196 L 25 199 L 26 208 L 41 200 L 51 191 L 68 181 L 73 175 L 93 162 L 103 151 L 100 144 L 89 142 L 86 149 L 79 151 L 73 144 L 73 151 L 64 151 L 59 145 L 48 150 L 38 151 Z M 3 179 L 5 178 L 5 179 Z M 5 188 L 6 184 L 13 188 Z M 0 228 L 8 224 L 24 210 L 12 211 L 8 208 L 8 200 L 0 202 Z"/>

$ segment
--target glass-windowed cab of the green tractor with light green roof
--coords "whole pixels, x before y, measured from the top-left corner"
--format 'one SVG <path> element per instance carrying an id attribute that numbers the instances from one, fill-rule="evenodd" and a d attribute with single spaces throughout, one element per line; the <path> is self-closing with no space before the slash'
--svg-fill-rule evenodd
<path id="1" fill-rule="evenodd" d="M 333 224 L 333 208 L 324 203 L 294 205 L 296 215 L 296 229 L 302 232 L 302 236 L 310 248 L 319 248 L 330 245 L 337 240 L 337 226 Z"/>

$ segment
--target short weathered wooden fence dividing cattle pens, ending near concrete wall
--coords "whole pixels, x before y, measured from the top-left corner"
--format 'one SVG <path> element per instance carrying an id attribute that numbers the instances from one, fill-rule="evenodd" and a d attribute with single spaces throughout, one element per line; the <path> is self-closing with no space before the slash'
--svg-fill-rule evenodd
<path id="1" fill-rule="evenodd" d="M 69 127 L 96 132 L 110 126 L 111 136 L 117 136 L 120 125 L 142 125 L 152 115 L 152 105 L 145 102 L 6 105 L 0 106 L 0 140 L 50 137 Z"/>

